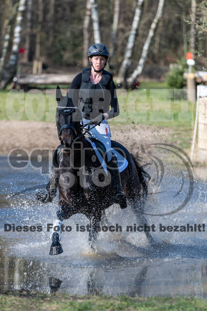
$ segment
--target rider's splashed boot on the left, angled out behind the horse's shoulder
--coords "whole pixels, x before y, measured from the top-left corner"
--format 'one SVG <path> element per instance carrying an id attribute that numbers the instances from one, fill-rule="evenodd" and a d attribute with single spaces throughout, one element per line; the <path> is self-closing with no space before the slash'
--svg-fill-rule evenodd
<path id="1" fill-rule="evenodd" d="M 37 192 L 35 194 L 35 199 L 42 203 L 52 202 L 53 198 L 56 195 L 57 186 L 58 186 L 58 168 L 52 165 L 51 179 L 46 186 L 46 190 Z"/>

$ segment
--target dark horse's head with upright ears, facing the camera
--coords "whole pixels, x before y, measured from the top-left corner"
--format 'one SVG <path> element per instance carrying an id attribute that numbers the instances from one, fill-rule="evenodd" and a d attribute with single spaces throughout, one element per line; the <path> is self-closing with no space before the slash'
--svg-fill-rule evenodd
<path id="1" fill-rule="evenodd" d="M 83 113 L 74 107 L 68 96 L 63 96 L 59 86 L 56 89 L 57 109 L 55 121 L 58 137 L 63 148 L 70 148 L 72 141 L 81 133 L 81 120 Z"/>

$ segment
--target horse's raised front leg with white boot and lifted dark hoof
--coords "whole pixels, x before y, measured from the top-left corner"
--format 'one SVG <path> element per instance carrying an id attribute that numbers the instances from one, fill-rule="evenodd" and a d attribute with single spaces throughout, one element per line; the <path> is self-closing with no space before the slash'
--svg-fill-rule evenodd
<path id="1" fill-rule="evenodd" d="M 50 255 L 59 255 L 63 252 L 62 245 L 60 244 L 61 241 L 61 225 L 62 221 L 64 219 L 64 212 L 60 208 L 57 211 L 57 219 L 53 223 L 53 228 L 52 228 L 52 244 L 51 244 L 51 250 L 50 250 Z M 56 230 L 54 231 L 54 227 Z M 59 229 L 58 229 L 59 227 Z"/>

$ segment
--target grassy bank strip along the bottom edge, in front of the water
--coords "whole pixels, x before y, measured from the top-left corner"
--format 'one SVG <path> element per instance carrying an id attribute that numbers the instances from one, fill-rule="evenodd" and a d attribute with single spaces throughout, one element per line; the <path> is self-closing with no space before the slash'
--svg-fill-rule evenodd
<path id="1" fill-rule="evenodd" d="M 0 310 L 36 311 L 205 311 L 207 301 L 189 297 L 76 296 L 24 291 L 0 294 Z"/>

